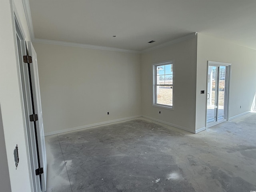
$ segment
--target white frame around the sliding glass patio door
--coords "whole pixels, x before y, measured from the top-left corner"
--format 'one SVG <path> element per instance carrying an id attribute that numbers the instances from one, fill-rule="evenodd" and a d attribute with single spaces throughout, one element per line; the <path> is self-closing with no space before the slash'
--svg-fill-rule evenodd
<path id="1" fill-rule="evenodd" d="M 216 62 L 216 61 L 210 61 L 208 60 L 207 62 L 207 79 L 206 82 L 208 82 L 208 69 L 209 66 L 216 66 L 216 67 L 220 67 L 220 66 L 226 66 L 226 85 L 225 85 L 225 95 L 224 95 L 224 99 L 225 99 L 225 103 L 224 103 L 224 119 L 218 121 L 218 117 L 217 117 L 217 121 L 216 122 L 212 122 L 207 124 L 207 94 L 206 94 L 206 116 L 205 116 L 205 127 L 209 128 L 211 126 L 220 124 L 224 121 L 229 121 L 229 100 L 230 100 L 230 77 L 231 77 L 231 63 L 225 63 L 225 62 Z M 218 74 L 219 76 L 219 74 Z M 219 79 L 218 79 L 219 81 Z M 208 83 L 206 85 L 206 90 L 208 93 Z"/>

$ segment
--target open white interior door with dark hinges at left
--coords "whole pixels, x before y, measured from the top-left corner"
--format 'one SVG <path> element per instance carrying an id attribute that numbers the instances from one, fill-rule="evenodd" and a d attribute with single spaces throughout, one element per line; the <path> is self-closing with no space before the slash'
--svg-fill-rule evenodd
<path id="1" fill-rule="evenodd" d="M 36 51 L 32 46 L 31 42 L 27 42 L 28 55 L 32 56 L 32 63 L 30 63 L 30 74 L 31 74 L 31 88 L 32 88 L 32 98 L 34 103 L 34 114 L 37 114 L 38 120 L 35 121 L 36 124 L 36 136 L 38 143 L 38 156 L 40 160 L 40 167 L 43 173 L 40 173 L 41 189 L 42 192 L 46 191 L 46 173 L 47 173 L 47 160 L 46 160 L 46 149 L 44 142 L 44 124 L 42 117 L 42 107 L 40 98 L 40 87 L 38 78 L 38 66 Z"/>

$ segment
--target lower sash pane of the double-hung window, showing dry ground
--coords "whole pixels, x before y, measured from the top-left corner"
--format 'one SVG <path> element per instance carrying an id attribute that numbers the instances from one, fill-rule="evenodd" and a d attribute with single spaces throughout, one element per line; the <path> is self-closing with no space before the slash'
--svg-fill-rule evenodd
<path id="1" fill-rule="evenodd" d="M 156 86 L 156 103 L 172 106 L 172 86 Z"/>

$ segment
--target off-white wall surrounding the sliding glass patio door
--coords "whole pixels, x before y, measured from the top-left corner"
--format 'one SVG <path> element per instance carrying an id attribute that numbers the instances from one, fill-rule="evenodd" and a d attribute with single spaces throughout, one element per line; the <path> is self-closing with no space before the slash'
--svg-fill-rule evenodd
<path id="1" fill-rule="evenodd" d="M 251 109 L 256 92 L 256 50 L 198 33 L 196 130 L 206 126 L 207 61 L 231 63 L 229 117 Z M 241 106 L 241 108 L 240 108 Z"/>

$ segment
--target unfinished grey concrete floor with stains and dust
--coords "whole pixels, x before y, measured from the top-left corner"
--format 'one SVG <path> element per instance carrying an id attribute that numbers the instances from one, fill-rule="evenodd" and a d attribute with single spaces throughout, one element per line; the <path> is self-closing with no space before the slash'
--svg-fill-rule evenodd
<path id="1" fill-rule="evenodd" d="M 256 190 L 256 113 L 192 134 L 144 118 L 46 136 L 47 192 Z"/>

